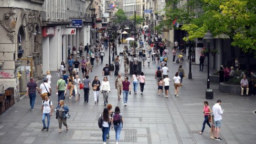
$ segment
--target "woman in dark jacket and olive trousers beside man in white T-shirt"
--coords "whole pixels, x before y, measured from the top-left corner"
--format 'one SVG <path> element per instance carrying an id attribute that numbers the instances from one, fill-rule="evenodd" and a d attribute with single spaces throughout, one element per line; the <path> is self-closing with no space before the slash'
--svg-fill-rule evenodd
<path id="1" fill-rule="evenodd" d="M 68 106 L 64 103 L 63 100 L 60 100 L 59 104 L 56 107 L 56 117 L 59 122 L 59 133 L 61 133 L 61 126 L 66 126 L 66 131 L 68 132 L 68 125 L 67 125 L 67 113 L 69 112 Z"/>

